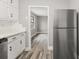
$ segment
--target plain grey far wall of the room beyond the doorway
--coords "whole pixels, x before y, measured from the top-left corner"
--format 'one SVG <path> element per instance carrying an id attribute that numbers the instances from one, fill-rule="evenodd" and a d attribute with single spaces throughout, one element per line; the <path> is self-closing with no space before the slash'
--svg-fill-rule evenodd
<path id="1" fill-rule="evenodd" d="M 48 33 L 48 17 L 47 16 L 37 17 L 37 32 Z"/>

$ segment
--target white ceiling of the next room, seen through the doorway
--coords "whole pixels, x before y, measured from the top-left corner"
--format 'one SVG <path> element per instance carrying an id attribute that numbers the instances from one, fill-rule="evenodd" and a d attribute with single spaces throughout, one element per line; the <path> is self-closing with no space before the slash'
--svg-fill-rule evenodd
<path id="1" fill-rule="evenodd" d="M 47 7 L 31 7 L 31 12 L 33 12 L 37 16 L 48 16 Z"/>

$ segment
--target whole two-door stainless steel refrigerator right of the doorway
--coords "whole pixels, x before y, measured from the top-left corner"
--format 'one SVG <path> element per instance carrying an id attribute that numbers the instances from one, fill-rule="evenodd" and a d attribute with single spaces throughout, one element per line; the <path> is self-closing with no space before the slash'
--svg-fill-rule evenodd
<path id="1" fill-rule="evenodd" d="M 53 59 L 77 59 L 77 12 L 58 9 L 54 15 Z"/>

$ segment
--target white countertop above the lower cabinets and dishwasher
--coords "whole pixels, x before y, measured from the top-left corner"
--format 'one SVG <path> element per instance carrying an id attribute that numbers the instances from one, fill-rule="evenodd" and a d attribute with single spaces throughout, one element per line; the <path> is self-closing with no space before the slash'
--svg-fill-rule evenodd
<path id="1" fill-rule="evenodd" d="M 0 27 L 0 38 L 9 37 L 21 32 L 25 32 L 25 28 L 19 24 L 14 24 L 12 26 Z"/>

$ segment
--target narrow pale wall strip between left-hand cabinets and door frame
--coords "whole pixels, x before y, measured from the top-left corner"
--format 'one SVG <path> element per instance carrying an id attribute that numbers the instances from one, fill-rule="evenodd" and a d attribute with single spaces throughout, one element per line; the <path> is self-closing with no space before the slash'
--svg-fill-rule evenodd
<path id="1" fill-rule="evenodd" d="M 27 15 L 28 15 L 28 0 L 19 0 L 19 23 L 23 24 L 28 28 L 27 25 Z M 29 49 L 28 32 L 26 32 L 26 48 Z"/>

